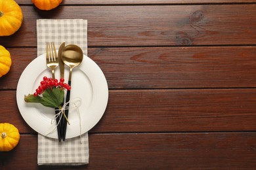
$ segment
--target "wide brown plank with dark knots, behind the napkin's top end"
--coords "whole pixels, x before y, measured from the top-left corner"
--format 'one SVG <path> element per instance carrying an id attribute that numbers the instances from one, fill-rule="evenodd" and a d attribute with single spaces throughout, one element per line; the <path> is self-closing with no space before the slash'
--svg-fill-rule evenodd
<path id="1" fill-rule="evenodd" d="M 38 11 L 22 6 L 18 32 L 3 46 L 36 46 L 35 20 L 88 20 L 89 46 L 188 46 L 256 44 L 255 5 L 62 6 Z M 139 17 L 138 17 L 139 16 Z"/>

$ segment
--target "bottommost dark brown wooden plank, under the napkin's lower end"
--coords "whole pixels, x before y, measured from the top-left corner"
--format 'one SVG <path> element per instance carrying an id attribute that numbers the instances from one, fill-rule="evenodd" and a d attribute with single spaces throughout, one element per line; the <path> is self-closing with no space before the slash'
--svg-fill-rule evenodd
<path id="1" fill-rule="evenodd" d="M 255 141 L 256 133 L 91 134 L 89 165 L 76 169 L 255 169 Z M 2 170 L 64 168 L 37 165 L 35 135 L 0 158 Z"/>

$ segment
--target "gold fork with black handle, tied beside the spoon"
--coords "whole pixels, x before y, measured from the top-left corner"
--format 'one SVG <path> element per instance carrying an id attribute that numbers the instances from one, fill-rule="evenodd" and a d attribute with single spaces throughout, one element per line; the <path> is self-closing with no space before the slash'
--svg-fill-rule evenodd
<path id="1" fill-rule="evenodd" d="M 58 55 L 56 52 L 54 42 L 46 42 L 46 65 L 51 69 L 53 79 L 54 79 L 55 78 L 54 69 L 58 67 Z M 58 108 L 56 108 L 55 114 L 58 114 L 58 112 L 59 112 Z M 60 123 L 59 116 L 56 117 L 56 124 L 57 124 L 57 130 L 58 130 L 58 141 L 61 142 L 62 135 L 60 132 L 61 123 Z"/>

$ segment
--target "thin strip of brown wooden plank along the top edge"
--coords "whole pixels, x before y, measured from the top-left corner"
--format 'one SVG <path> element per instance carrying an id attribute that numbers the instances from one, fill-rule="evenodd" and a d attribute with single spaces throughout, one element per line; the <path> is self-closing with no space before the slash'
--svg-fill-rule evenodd
<path id="1" fill-rule="evenodd" d="M 32 4 L 31 0 L 16 0 L 19 4 Z M 197 3 L 255 3 L 255 0 L 68 0 L 62 1 L 61 5 L 148 5 L 148 4 L 197 4 Z"/>

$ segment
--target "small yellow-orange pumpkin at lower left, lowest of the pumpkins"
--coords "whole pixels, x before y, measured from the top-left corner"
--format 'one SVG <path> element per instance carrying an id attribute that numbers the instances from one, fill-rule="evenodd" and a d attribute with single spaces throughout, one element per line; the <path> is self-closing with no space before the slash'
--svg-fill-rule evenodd
<path id="1" fill-rule="evenodd" d="M 0 124 L 0 151 L 10 151 L 20 141 L 18 129 L 8 123 Z"/>

